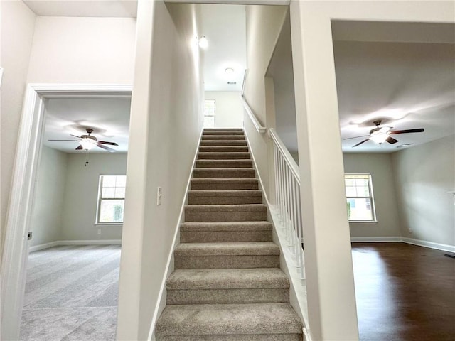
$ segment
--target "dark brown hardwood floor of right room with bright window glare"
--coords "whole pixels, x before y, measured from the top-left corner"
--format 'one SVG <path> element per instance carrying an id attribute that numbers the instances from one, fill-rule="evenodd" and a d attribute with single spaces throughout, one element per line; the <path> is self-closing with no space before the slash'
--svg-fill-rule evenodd
<path id="1" fill-rule="evenodd" d="M 353 243 L 360 340 L 455 340 L 455 259 L 446 253 Z"/>

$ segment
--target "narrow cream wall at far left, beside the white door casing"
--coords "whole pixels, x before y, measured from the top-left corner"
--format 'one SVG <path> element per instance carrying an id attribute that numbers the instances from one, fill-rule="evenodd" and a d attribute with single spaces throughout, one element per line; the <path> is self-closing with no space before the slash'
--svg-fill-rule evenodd
<path id="1" fill-rule="evenodd" d="M 0 1 L 1 54 L 1 168 L 0 168 L 0 259 L 5 238 L 6 210 L 23 95 L 25 93 L 36 16 L 22 1 Z"/>

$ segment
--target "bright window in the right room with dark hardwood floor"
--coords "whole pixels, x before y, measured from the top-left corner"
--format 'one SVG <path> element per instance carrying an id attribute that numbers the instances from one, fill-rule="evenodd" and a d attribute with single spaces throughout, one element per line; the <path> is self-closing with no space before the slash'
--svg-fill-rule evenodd
<path id="1" fill-rule="evenodd" d="M 375 202 L 370 174 L 345 174 L 346 202 L 350 222 L 375 222 Z"/>

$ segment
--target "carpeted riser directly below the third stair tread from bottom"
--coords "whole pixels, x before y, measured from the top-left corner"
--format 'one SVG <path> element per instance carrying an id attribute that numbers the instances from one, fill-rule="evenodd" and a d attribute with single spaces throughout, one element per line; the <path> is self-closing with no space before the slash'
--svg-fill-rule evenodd
<path id="1" fill-rule="evenodd" d="M 175 269 L 277 268 L 279 255 L 264 256 L 174 256 Z"/>

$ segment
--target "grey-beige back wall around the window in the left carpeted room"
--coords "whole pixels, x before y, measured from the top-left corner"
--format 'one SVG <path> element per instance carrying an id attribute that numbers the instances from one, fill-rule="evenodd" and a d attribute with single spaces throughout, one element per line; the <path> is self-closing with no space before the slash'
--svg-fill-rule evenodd
<path id="1" fill-rule="evenodd" d="M 100 175 L 123 175 L 126 171 L 126 153 L 68 154 L 61 240 L 122 239 L 122 225 L 94 224 Z"/>

